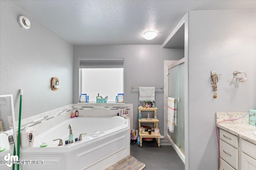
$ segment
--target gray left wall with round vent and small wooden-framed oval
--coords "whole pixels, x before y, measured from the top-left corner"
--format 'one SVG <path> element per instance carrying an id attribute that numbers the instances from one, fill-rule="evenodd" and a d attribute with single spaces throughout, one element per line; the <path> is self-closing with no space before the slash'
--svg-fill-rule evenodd
<path id="1" fill-rule="evenodd" d="M 0 94 L 14 95 L 15 118 L 23 89 L 22 118 L 72 104 L 73 45 L 11 1 L 0 2 Z M 31 21 L 20 27 L 18 16 Z M 52 91 L 52 77 L 60 89 Z"/>

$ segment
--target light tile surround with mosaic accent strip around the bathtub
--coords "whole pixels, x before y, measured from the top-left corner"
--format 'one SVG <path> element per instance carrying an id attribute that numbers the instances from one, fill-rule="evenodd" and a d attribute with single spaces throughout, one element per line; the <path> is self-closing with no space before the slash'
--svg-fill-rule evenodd
<path id="1" fill-rule="evenodd" d="M 79 116 L 114 116 L 118 113 L 118 109 L 127 109 L 130 117 L 130 127 L 133 128 L 133 104 L 70 104 L 59 107 L 38 115 L 27 117 L 21 120 L 21 131 L 25 126 L 33 127 L 36 131 L 35 135 L 39 135 L 46 130 L 70 119 L 72 109 L 77 109 Z M 18 121 L 15 122 L 18 127 Z"/>

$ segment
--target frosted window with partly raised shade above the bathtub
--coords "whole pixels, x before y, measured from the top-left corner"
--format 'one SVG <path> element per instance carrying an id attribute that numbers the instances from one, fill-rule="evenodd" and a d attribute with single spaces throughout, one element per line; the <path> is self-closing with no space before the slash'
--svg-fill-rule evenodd
<path id="1" fill-rule="evenodd" d="M 79 59 L 79 69 L 80 94 L 87 94 L 90 102 L 96 102 L 98 94 L 115 102 L 124 92 L 124 59 Z"/>

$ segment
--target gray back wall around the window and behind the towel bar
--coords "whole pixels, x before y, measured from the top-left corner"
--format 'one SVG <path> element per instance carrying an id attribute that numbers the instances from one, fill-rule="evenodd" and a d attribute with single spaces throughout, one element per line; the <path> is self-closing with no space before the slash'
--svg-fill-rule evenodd
<path id="1" fill-rule="evenodd" d="M 164 86 L 164 60 L 183 57 L 184 50 L 163 49 L 162 45 L 75 45 L 73 102 L 79 102 L 79 58 L 124 58 L 124 102 L 133 104 L 133 126 L 137 128 L 139 89 L 132 90 L 131 86 Z M 164 91 L 156 88 L 155 96 L 160 121 L 158 125 L 161 135 L 164 135 Z"/>

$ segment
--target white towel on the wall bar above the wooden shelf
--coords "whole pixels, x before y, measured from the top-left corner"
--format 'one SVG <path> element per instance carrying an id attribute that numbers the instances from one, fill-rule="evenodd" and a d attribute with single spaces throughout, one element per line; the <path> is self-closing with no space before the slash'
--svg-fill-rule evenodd
<path id="1" fill-rule="evenodd" d="M 140 101 L 151 101 L 155 100 L 155 87 L 139 87 L 140 89 Z"/>

